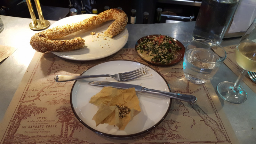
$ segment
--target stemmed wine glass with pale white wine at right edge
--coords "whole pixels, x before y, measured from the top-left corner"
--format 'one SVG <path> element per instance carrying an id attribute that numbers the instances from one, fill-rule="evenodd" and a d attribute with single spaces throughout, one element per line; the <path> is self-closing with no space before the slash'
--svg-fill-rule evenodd
<path id="1" fill-rule="evenodd" d="M 247 71 L 256 72 L 256 18 L 240 39 L 235 49 L 235 60 L 243 68 L 238 79 L 218 84 L 217 91 L 221 98 L 231 103 L 243 103 L 247 99 L 246 90 L 239 85 Z"/>

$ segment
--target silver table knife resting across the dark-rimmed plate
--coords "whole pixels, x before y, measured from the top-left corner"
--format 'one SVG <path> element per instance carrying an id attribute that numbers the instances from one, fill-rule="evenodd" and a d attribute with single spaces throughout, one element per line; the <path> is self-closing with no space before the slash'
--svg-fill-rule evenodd
<path id="1" fill-rule="evenodd" d="M 114 87 L 114 88 L 121 88 L 121 89 L 135 88 L 136 91 L 147 92 L 147 93 L 152 93 L 152 94 L 156 94 L 156 95 L 163 95 L 163 96 L 178 99 L 178 100 L 184 101 L 184 102 L 195 103 L 197 101 L 197 97 L 195 97 L 193 95 L 177 94 L 177 93 L 171 93 L 171 92 L 167 92 L 167 91 L 149 89 L 149 88 L 145 88 L 145 87 L 142 87 L 139 85 L 132 85 L 132 84 L 122 83 L 122 82 L 91 81 L 91 82 L 89 82 L 89 85 L 102 86 L 102 87 Z"/>

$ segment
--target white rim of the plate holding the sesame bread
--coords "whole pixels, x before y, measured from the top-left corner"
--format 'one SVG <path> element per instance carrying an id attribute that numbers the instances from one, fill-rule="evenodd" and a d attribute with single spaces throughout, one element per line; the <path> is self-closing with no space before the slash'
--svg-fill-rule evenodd
<path id="1" fill-rule="evenodd" d="M 95 14 L 87 14 L 86 16 L 90 16 L 90 17 L 92 17 L 92 16 L 96 16 Z M 82 17 L 82 16 L 84 16 L 84 15 L 74 15 L 74 16 L 72 16 L 72 17 L 78 17 L 78 18 L 80 18 L 80 17 Z M 71 17 L 71 16 L 70 16 Z M 65 18 L 63 18 L 63 19 L 68 19 L 68 18 L 70 18 L 70 17 L 65 17 Z M 88 18 L 90 18 L 90 17 L 88 17 Z M 59 21 L 63 21 L 63 19 L 60 19 Z M 58 21 L 57 21 L 58 22 Z M 56 23 L 56 22 L 55 22 Z M 51 28 L 53 28 L 53 27 L 56 27 L 56 26 L 59 26 L 59 25 L 54 25 L 55 23 L 53 23 L 50 27 L 49 27 L 49 29 L 51 29 Z M 71 24 L 72 22 L 70 22 L 70 23 L 65 23 L 64 25 L 66 25 L 66 24 Z M 63 25 L 60 25 L 60 26 L 63 26 Z M 117 48 L 116 50 L 114 50 L 112 53 L 108 53 L 107 55 L 102 55 L 102 56 L 98 56 L 98 57 L 93 57 L 93 58 L 77 58 L 77 57 L 72 57 L 72 56 L 67 56 L 67 55 L 63 55 L 63 54 L 61 54 L 61 53 L 59 53 L 59 52 L 56 52 L 56 51 L 51 51 L 51 53 L 53 53 L 53 54 L 55 54 L 56 56 L 59 56 L 59 57 L 62 57 L 62 58 L 65 58 L 65 59 L 69 59 L 69 60 L 74 60 L 74 61 L 91 61 L 91 60 L 96 60 L 96 59 L 101 59 L 101 58 L 105 58 L 105 57 L 108 57 L 108 56 L 110 56 L 110 55 L 113 55 L 113 54 L 115 54 L 115 53 L 117 53 L 120 49 L 122 49 L 125 45 L 126 45 L 126 43 L 127 43 L 127 41 L 128 41 L 128 38 L 129 38 L 129 31 L 127 30 L 127 27 L 125 27 L 125 29 L 122 31 L 122 32 L 127 32 L 127 38 L 126 38 L 126 42 L 123 42 L 123 45 L 122 46 L 120 46 L 120 48 Z M 113 46 L 113 47 L 115 47 L 115 46 Z M 67 52 L 67 51 L 66 51 Z"/>

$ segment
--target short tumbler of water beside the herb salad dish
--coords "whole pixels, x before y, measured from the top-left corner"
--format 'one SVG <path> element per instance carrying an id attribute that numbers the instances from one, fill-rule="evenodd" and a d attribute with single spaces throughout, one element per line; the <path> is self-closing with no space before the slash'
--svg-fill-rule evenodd
<path id="1" fill-rule="evenodd" d="M 226 58 L 226 51 L 209 40 L 193 40 L 186 46 L 183 72 L 187 80 L 201 84 L 211 80 Z"/>

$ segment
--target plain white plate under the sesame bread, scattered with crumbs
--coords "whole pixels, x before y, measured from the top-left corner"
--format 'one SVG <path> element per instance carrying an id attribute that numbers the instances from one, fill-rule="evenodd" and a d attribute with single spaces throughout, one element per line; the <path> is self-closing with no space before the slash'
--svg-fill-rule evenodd
<path id="1" fill-rule="evenodd" d="M 86 14 L 86 15 L 75 15 L 63 18 L 53 25 L 50 28 L 55 26 L 62 26 L 70 23 L 75 23 L 82 21 L 83 19 L 95 16 L 93 14 Z M 89 61 L 94 59 L 100 59 L 107 56 L 110 56 L 117 51 L 119 51 L 123 46 L 125 46 L 126 42 L 128 41 L 128 30 L 125 28 L 121 33 L 116 35 L 113 38 L 104 37 L 103 34 L 106 31 L 107 27 L 113 21 L 105 22 L 97 27 L 94 27 L 90 30 L 82 30 L 73 34 L 70 34 L 66 37 L 63 37 L 59 40 L 66 40 L 66 39 L 73 39 L 74 37 L 81 37 L 85 40 L 85 48 L 73 50 L 73 51 L 66 51 L 66 52 L 53 52 L 53 54 L 72 60 L 78 61 Z M 91 35 L 90 32 L 95 32 L 95 35 Z M 99 33 L 99 35 L 98 35 Z M 97 38 L 98 35 L 98 38 Z M 104 39 L 105 38 L 105 39 Z"/>

